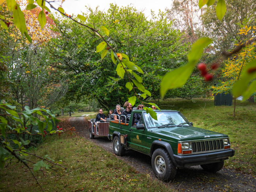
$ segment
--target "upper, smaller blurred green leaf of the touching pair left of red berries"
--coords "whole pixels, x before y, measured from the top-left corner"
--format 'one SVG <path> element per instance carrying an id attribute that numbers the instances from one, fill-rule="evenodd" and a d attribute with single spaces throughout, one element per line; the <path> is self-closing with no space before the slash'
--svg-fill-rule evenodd
<path id="1" fill-rule="evenodd" d="M 198 39 L 195 43 L 193 43 L 191 51 L 188 54 L 188 61 L 199 60 L 202 56 L 204 48 L 210 45 L 212 40 L 207 37 L 203 37 Z"/>

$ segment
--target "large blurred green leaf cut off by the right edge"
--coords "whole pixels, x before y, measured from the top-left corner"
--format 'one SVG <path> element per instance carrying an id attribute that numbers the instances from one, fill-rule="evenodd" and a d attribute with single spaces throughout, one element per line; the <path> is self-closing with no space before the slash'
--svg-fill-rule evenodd
<path id="1" fill-rule="evenodd" d="M 252 87 L 250 87 L 250 86 L 248 87 L 248 84 L 251 82 L 251 80 L 256 78 L 256 71 L 249 72 L 248 70 L 251 68 L 255 68 L 255 67 L 256 67 L 256 60 L 252 60 L 250 63 L 248 63 L 246 65 L 246 67 L 242 71 L 241 79 L 238 80 L 233 86 L 234 97 L 239 97 L 240 95 L 243 95 L 244 93 L 245 93 L 245 95 L 247 95 L 248 93 L 251 93 L 254 84 L 252 84 Z M 246 90 L 248 90 L 248 93 L 246 93 Z M 247 98 L 245 98 L 245 99 L 247 99 Z"/>

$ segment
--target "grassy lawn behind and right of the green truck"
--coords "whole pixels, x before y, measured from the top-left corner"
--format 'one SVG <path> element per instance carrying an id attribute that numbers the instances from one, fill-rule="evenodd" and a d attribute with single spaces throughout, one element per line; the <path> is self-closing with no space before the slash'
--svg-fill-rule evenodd
<path id="1" fill-rule="evenodd" d="M 236 101 L 234 118 L 234 105 L 214 106 L 213 99 L 168 99 L 157 104 L 161 109 L 180 111 L 195 127 L 227 134 L 235 155 L 225 166 L 256 174 L 256 103 Z"/>

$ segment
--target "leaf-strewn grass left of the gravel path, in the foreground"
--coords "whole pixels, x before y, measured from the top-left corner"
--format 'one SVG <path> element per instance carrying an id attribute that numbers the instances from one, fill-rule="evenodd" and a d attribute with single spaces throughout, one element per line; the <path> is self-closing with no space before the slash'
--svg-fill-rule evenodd
<path id="1" fill-rule="evenodd" d="M 54 160 L 63 160 L 67 170 L 35 172 L 44 191 L 172 191 L 161 181 L 140 174 L 114 154 L 80 136 L 64 133 L 47 136 L 44 144 L 31 150 L 38 155 L 50 154 Z M 32 161 L 37 161 L 31 158 Z M 33 167 L 33 163 L 30 163 Z M 40 191 L 29 170 L 13 162 L 0 172 L 0 191 Z M 173 190 L 174 191 L 174 190 Z"/>

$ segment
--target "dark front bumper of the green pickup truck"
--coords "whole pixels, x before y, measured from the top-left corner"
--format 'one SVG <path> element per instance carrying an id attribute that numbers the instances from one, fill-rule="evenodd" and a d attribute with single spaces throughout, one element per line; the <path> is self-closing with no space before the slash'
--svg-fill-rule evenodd
<path id="1" fill-rule="evenodd" d="M 224 161 L 225 159 L 234 156 L 234 154 L 235 151 L 233 149 L 227 149 L 203 154 L 173 155 L 173 157 L 176 161 L 174 164 L 176 164 L 177 167 L 189 167 L 193 165 L 203 165 Z"/>

